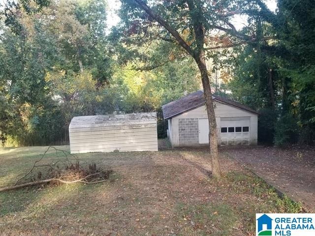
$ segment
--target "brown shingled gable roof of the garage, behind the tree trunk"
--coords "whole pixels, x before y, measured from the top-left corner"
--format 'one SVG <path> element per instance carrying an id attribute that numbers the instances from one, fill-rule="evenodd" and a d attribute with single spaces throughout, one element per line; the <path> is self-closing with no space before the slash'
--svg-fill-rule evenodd
<path id="1" fill-rule="evenodd" d="M 252 108 L 244 106 L 239 102 L 235 102 L 235 101 L 228 99 L 228 98 L 225 98 L 225 97 L 213 95 L 212 99 L 216 100 L 218 102 L 222 102 L 222 103 L 237 107 L 237 108 L 242 109 L 242 110 L 246 110 L 248 112 L 258 114 Z M 185 97 L 182 97 L 178 100 L 175 100 L 173 102 L 170 102 L 170 103 L 163 105 L 162 106 L 163 117 L 164 117 L 164 119 L 170 119 L 170 118 L 179 116 L 179 115 L 183 114 L 184 112 L 187 112 L 187 111 L 192 110 L 194 108 L 203 106 L 204 104 L 205 104 L 205 98 L 203 95 L 203 91 L 199 90 L 199 91 L 191 93 Z"/>

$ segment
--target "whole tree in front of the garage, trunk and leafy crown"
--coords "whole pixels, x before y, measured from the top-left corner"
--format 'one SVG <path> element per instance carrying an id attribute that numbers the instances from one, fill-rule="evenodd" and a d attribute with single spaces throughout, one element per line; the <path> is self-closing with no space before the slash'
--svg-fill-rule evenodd
<path id="1" fill-rule="evenodd" d="M 220 178 L 217 124 L 206 59 L 213 56 L 213 49 L 227 48 L 233 44 L 256 40 L 255 36 L 251 37 L 237 31 L 234 25 L 230 23 L 230 19 L 236 14 L 245 14 L 250 10 L 258 14 L 260 9 L 265 7 L 265 4 L 260 0 L 246 3 L 238 0 L 215 2 L 206 0 L 165 0 L 150 1 L 150 3 L 143 0 L 122 0 L 122 3 L 121 12 L 123 14 L 121 17 L 124 21 L 124 34 L 127 37 L 138 35 L 138 44 L 143 41 L 143 38 L 147 38 L 149 41 L 154 39 L 165 40 L 181 47 L 196 62 L 201 75 L 209 120 L 212 175 Z M 259 7 L 259 4 L 262 7 Z M 219 46 L 218 42 L 211 41 L 210 36 L 214 30 L 228 33 L 230 38 L 225 40 L 227 43 L 220 44 L 224 41 L 222 40 L 224 36 L 220 37 Z M 212 47 L 206 48 L 205 44 Z M 215 45 L 213 46 L 213 44 Z M 210 70 L 212 69 L 210 68 Z"/>

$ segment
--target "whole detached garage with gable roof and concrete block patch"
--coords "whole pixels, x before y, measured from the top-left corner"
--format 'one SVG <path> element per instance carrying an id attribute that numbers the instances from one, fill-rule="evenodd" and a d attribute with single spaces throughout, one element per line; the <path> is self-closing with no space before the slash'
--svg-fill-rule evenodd
<path id="1" fill-rule="evenodd" d="M 258 113 L 238 102 L 212 97 L 218 133 L 218 145 L 257 145 Z M 209 124 L 203 91 L 199 90 L 162 106 L 168 120 L 172 147 L 209 144 Z"/>

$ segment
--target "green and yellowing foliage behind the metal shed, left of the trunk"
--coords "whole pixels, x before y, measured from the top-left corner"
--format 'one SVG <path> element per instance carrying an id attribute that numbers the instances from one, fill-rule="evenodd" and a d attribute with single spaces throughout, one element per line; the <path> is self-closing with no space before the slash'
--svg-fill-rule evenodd
<path id="1" fill-rule="evenodd" d="M 104 0 L 51 1 L 35 15 L 22 10 L 23 35 L 0 25 L 0 145 L 67 144 L 71 118 L 115 110 L 158 111 L 158 136 L 166 136 L 161 105 L 199 89 L 196 67 L 184 57 L 150 71 L 177 55 L 174 47 L 109 41 L 106 7 Z"/>

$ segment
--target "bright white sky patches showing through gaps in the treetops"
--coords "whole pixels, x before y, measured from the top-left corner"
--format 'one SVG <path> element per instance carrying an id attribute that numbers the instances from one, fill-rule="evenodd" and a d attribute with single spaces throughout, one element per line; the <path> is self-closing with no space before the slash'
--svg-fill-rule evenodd
<path id="1" fill-rule="evenodd" d="M 113 26 L 117 25 L 119 22 L 119 17 L 116 14 L 116 11 L 119 9 L 121 2 L 120 0 L 107 0 L 109 6 L 109 13 L 107 16 L 107 26 L 108 29 L 112 28 Z M 264 0 L 270 10 L 275 11 L 277 8 L 277 1 L 276 0 Z M 235 25 L 236 29 L 242 29 L 247 20 L 245 16 L 237 16 L 233 20 L 233 24 Z"/>

